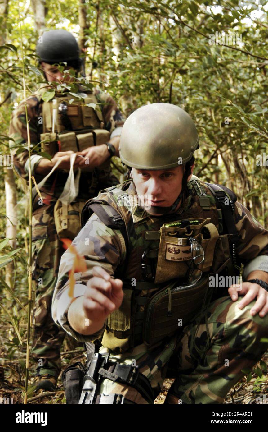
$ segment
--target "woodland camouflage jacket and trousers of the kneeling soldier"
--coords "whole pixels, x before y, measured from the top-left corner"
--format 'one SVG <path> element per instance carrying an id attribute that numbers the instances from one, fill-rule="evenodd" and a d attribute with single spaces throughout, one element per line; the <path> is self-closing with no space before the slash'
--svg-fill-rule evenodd
<path id="1" fill-rule="evenodd" d="M 129 197 L 135 196 L 133 184 L 129 185 L 127 192 Z M 206 196 L 211 197 L 207 188 Z M 102 194 L 99 197 L 102 197 Z M 150 227 L 155 230 L 156 226 L 161 226 L 172 219 L 175 221 L 197 217 L 196 215 L 201 211 L 191 182 L 187 183 L 183 203 L 174 214 L 152 216 L 139 206 L 133 206 L 132 203 L 133 200 L 130 200 L 131 219 L 134 225 L 140 226 L 140 235 L 144 225 L 146 230 Z M 208 217 L 212 220 L 215 211 L 215 205 L 212 204 L 211 210 L 207 211 Z M 253 258 L 267 256 L 268 231 L 239 202 L 234 204 L 234 218 L 240 235 L 236 250 L 241 262 L 247 265 Z M 220 232 L 219 225 L 218 229 Z M 89 241 L 85 242 L 85 239 Z M 132 237 L 131 242 L 133 250 L 139 248 L 138 237 Z M 124 282 L 128 277 L 128 269 L 137 264 L 130 260 L 125 273 L 118 273 L 118 268 L 128 257 L 125 241 L 119 230 L 105 226 L 96 214 L 90 217 L 73 244 L 79 254 L 84 255 L 87 264 L 86 272 L 75 273 L 74 297 L 84 294 L 85 285 L 92 277 L 93 266 L 100 265 L 110 275 L 115 274 Z M 214 262 L 218 261 L 217 265 L 220 264 L 219 254 L 221 251 L 215 250 Z M 67 314 L 72 299 L 68 296 L 68 272 L 72 262 L 73 255 L 69 250 L 65 251 L 61 258 L 59 278 L 53 294 L 54 321 L 77 340 L 83 342 L 101 340 L 100 353 L 110 352 L 112 361 L 133 365 L 135 360 L 139 371 L 150 380 L 155 397 L 161 391 L 166 377 L 176 378 L 165 403 L 223 403 L 230 388 L 243 377 L 244 373 L 241 370 L 246 367 L 252 368 L 268 347 L 268 343 L 260 342 L 262 337 L 267 336 L 268 314 L 264 318 L 260 318 L 259 314 L 254 317 L 249 314 L 255 300 L 240 310 L 237 305 L 241 298 L 233 302 L 225 288 L 214 292 L 207 310 L 198 312 L 190 323 L 183 327 L 183 330 L 178 330 L 164 343 L 158 343 L 150 348 L 140 343 L 131 350 L 122 345 L 125 340 L 122 342 L 115 338 L 115 348 L 107 348 L 107 343 L 104 343 L 104 340 L 109 342 L 107 320 L 103 328 L 91 336 L 78 334 L 69 325 Z M 140 295 L 145 296 L 148 293 L 152 295 L 155 291 L 155 289 L 142 291 Z M 100 393 L 123 394 L 135 403 L 148 403 L 134 388 L 109 379 L 102 381 Z"/>

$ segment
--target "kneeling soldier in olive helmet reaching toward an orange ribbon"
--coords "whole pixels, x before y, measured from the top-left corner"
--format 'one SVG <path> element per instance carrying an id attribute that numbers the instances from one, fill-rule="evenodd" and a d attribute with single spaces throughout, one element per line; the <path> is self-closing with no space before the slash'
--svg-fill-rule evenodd
<path id="1" fill-rule="evenodd" d="M 268 347 L 268 231 L 234 192 L 192 176 L 198 147 L 181 108 L 137 109 L 120 138 L 131 180 L 84 207 L 72 244 L 87 270 L 69 297 L 65 251 L 52 302 L 53 319 L 87 343 L 80 403 L 153 403 L 165 377 L 176 378 L 165 403 L 223 403 Z"/>

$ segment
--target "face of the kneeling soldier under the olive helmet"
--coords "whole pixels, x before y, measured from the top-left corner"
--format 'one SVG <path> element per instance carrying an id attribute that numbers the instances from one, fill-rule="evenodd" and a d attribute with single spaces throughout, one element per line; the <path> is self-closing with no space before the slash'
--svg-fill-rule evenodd
<path id="1" fill-rule="evenodd" d="M 131 170 L 138 196 L 151 207 L 172 206 L 181 193 L 183 174 L 184 168 L 182 165 L 156 171 L 136 168 L 132 168 Z M 191 175 L 188 177 L 188 180 L 190 178 Z M 150 210 L 146 209 L 146 211 L 150 213 Z M 158 214 L 160 216 L 162 213 Z"/>

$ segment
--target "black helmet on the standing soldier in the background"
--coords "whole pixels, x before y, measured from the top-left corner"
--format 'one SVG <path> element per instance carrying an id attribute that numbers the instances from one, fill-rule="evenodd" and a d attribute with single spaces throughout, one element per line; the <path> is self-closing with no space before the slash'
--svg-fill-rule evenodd
<path id="1" fill-rule="evenodd" d="M 75 37 L 67 30 L 49 30 L 36 44 L 39 62 L 48 64 L 66 62 L 68 66 L 80 69 L 79 47 Z"/>

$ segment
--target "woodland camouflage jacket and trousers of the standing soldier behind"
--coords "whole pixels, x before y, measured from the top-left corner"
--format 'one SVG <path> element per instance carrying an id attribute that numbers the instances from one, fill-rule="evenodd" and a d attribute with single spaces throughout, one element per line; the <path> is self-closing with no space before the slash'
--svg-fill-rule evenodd
<path id="1" fill-rule="evenodd" d="M 27 98 L 28 121 L 30 126 L 31 144 L 40 142 L 43 125 L 39 121 L 42 116 L 42 101 L 39 89 L 35 94 Z M 79 91 L 85 89 L 81 86 Z M 112 97 L 99 89 L 93 89 L 100 104 L 105 128 L 111 133 L 115 128 L 121 127 L 124 118 Z M 16 155 L 18 145 L 27 143 L 27 130 L 25 120 L 25 105 L 21 102 L 13 111 L 10 122 L 9 136 L 15 140 L 10 141 L 10 150 L 13 155 L 16 174 L 23 179 L 23 185 L 28 184 L 28 150 Z M 27 144 L 26 144 L 27 145 Z M 41 156 L 31 156 L 31 169 L 37 184 L 45 177 L 34 173 L 34 168 L 40 161 Z M 59 261 L 64 249 L 62 242 L 56 233 L 53 210 L 57 198 L 63 191 L 68 173 L 55 170 L 41 187 L 43 205 L 40 205 L 38 195 L 33 201 L 32 218 L 32 270 L 33 280 L 36 282 L 36 302 L 34 307 L 34 340 L 32 346 L 32 357 L 42 359 L 43 366 L 37 368 L 37 375 L 48 373 L 57 378 L 60 372 L 60 347 L 65 337 L 65 332 L 55 325 L 51 318 L 51 300 L 56 285 Z M 81 172 L 79 182 L 79 193 L 77 201 L 85 203 L 89 197 L 94 197 L 103 187 L 118 183 L 111 168 L 100 170 L 95 168 L 93 173 Z"/>

